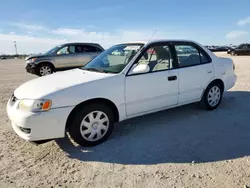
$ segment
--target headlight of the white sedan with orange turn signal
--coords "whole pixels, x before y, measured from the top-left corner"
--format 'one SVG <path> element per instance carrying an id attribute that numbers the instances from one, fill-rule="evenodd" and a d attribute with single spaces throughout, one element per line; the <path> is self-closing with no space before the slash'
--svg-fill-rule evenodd
<path id="1" fill-rule="evenodd" d="M 41 99 L 41 100 L 29 100 L 29 99 L 23 99 L 20 100 L 18 107 L 19 109 L 23 111 L 29 111 L 29 112 L 42 112 L 42 111 L 48 111 L 51 108 L 52 101 Z"/>

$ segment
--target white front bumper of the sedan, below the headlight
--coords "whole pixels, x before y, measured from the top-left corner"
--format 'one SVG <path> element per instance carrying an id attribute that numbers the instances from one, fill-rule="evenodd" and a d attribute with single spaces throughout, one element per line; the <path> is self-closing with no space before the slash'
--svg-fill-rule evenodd
<path id="1" fill-rule="evenodd" d="M 47 112 L 33 113 L 18 109 L 18 103 L 7 104 L 7 114 L 12 128 L 27 141 L 41 141 L 65 136 L 67 118 L 73 107 L 51 109 Z"/>

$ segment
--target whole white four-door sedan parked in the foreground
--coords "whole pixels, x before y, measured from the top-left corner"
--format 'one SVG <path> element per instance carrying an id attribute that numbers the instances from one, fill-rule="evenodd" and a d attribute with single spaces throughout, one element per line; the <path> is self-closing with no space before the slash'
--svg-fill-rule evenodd
<path id="1" fill-rule="evenodd" d="M 190 50 L 176 50 L 184 48 Z M 22 84 L 7 112 L 25 140 L 60 138 L 68 131 L 78 144 L 94 146 L 125 119 L 194 102 L 217 108 L 235 85 L 234 69 L 231 59 L 193 41 L 123 43 L 82 68 Z"/>

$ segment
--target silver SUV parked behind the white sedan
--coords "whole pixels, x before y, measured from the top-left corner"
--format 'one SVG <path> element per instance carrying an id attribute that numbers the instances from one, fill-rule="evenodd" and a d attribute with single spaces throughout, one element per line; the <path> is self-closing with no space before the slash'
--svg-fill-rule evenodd
<path id="1" fill-rule="evenodd" d="M 44 54 L 27 57 L 26 70 L 44 76 L 60 70 L 82 67 L 103 51 L 103 47 L 97 43 L 62 44 Z"/>

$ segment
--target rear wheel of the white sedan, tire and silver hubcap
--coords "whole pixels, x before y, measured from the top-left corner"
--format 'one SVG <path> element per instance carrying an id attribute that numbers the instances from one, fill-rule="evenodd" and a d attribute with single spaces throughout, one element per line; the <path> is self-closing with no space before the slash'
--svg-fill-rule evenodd
<path id="1" fill-rule="evenodd" d="M 206 110 L 214 110 L 220 105 L 222 96 L 223 86 L 218 82 L 211 83 L 203 94 L 201 105 Z"/>

